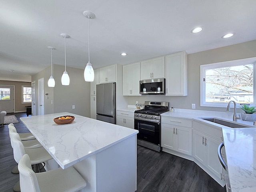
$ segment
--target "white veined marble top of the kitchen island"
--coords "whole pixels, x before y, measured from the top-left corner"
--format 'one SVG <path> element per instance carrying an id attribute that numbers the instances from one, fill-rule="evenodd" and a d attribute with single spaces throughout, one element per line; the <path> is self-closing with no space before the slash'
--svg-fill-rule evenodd
<path id="1" fill-rule="evenodd" d="M 53 119 L 72 115 L 72 124 L 57 125 Z M 64 169 L 138 133 L 68 112 L 22 117 L 20 120 Z"/>

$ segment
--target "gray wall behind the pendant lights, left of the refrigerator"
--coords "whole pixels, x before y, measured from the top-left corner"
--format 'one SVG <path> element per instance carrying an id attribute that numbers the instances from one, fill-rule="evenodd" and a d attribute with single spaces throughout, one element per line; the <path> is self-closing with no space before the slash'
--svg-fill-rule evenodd
<path id="1" fill-rule="evenodd" d="M 48 87 L 50 66 L 32 76 L 32 82 L 36 82 L 36 102 L 38 103 L 38 79 L 44 78 L 44 114 L 70 112 L 90 117 L 90 82 L 84 81 L 84 70 L 67 67 L 70 85 L 63 86 L 61 76 L 64 69 L 64 66 L 53 65 L 54 88 Z M 48 93 L 48 99 L 46 99 L 46 93 Z M 75 109 L 72 109 L 72 105 L 75 105 Z M 37 108 L 36 110 L 38 112 Z"/>

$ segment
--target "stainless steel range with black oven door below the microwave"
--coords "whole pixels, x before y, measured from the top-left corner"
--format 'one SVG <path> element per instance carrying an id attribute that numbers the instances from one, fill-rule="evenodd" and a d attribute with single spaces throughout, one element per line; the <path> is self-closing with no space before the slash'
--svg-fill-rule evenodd
<path id="1" fill-rule="evenodd" d="M 138 130 L 138 145 L 160 152 L 161 116 L 169 110 L 168 102 L 145 101 L 145 108 L 134 112 L 134 129 Z"/>

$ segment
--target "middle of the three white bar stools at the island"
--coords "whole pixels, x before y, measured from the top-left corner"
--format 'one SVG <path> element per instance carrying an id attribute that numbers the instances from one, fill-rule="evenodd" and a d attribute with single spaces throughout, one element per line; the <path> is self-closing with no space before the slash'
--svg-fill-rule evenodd
<path id="1" fill-rule="evenodd" d="M 16 137 L 11 137 L 14 160 L 19 163 L 24 154 L 30 157 L 31 165 L 40 164 L 52 159 L 52 156 L 43 148 L 24 148 L 22 142 Z M 40 169 L 39 169 L 40 171 Z M 20 192 L 20 182 L 17 182 L 13 188 L 14 191 Z"/>

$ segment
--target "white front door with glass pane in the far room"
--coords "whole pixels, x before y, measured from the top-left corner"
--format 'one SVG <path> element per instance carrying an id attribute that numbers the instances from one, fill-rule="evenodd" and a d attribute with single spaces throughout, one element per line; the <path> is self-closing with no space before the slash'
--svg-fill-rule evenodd
<path id="1" fill-rule="evenodd" d="M 14 86 L 0 85 L 0 110 L 14 112 Z"/>

